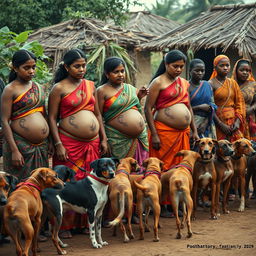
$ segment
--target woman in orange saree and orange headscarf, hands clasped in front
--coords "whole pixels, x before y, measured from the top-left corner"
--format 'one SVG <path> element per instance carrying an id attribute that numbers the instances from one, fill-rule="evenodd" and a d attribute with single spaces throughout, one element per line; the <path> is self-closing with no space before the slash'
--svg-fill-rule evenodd
<path id="1" fill-rule="evenodd" d="M 226 55 L 214 59 L 214 71 L 209 83 L 213 88 L 214 101 L 218 106 L 215 116 L 217 139 L 230 142 L 243 137 L 245 104 L 237 82 L 227 78 L 230 60 Z"/>

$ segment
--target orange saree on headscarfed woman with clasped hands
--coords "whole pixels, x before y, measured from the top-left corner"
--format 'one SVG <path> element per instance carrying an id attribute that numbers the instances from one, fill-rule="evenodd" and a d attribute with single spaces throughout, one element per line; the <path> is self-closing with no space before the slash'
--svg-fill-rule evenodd
<path id="1" fill-rule="evenodd" d="M 214 92 L 214 100 L 215 104 L 218 106 L 216 114 L 222 122 L 232 126 L 237 118 L 240 120 L 239 129 L 231 136 L 224 134 L 217 127 L 218 140 L 226 139 L 233 142 L 242 138 L 245 120 L 245 103 L 236 81 L 226 78 L 222 86 Z"/>

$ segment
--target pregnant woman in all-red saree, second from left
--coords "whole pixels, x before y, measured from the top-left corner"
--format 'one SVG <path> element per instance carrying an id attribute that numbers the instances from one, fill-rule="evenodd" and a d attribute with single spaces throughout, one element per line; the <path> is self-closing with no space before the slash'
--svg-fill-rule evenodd
<path id="1" fill-rule="evenodd" d="M 86 56 L 79 49 L 68 51 L 55 74 L 55 85 L 49 95 L 49 125 L 55 145 L 53 166 L 63 164 L 83 179 L 90 163 L 107 151 L 107 137 L 98 108 L 94 83 L 84 79 Z M 101 149 L 101 150 L 100 150 Z M 75 226 L 75 213 L 68 212 L 62 230 Z M 79 220 L 80 221 L 80 220 Z M 77 224 L 84 227 L 86 223 Z M 70 238 L 62 232 L 62 238 Z"/>

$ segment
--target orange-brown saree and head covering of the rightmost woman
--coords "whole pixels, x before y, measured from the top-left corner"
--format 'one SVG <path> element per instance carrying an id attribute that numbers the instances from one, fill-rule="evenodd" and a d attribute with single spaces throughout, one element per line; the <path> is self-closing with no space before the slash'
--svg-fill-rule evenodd
<path id="1" fill-rule="evenodd" d="M 237 82 L 237 65 L 240 61 L 247 61 L 248 64 L 251 62 L 246 59 L 240 59 L 236 62 L 232 77 Z M 256 81 L 252 75 L 249 74 L 247 81 L 240 86 L 240 90 L 242 92 L 246 109 L 249 109 L 254 101 L 254 95 L 256 94 Z M 251 113 L 250 115 L 246 114 L 245 127 L 244 127 L 244 137 L 249 140 L 256 141 L 256 116 L 255 113 Z"/>

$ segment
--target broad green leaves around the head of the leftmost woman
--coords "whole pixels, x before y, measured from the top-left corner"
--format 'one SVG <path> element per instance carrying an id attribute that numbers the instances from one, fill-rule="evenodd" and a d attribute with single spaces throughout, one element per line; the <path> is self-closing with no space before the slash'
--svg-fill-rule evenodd
<path id="1" fill-rule="evenodd" d="M 51 80 L 51 73 L 44 62 L 49 61 L 49 59 L 44 55 L 43 47 L 36 41 L 27 42 L 30 32 L 25 31 L 16 34 L 10 31 L 8 27 L 0 29 L 0 77 L 5 83 L 8 82 L 9 64 L 11 63 L 12 56 L 19 49 L 31 51 L 37 57 L 35 81 L 40 84 L 46 84 Z"/>

